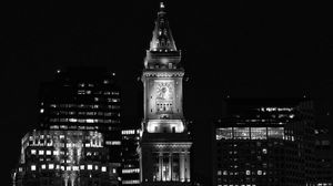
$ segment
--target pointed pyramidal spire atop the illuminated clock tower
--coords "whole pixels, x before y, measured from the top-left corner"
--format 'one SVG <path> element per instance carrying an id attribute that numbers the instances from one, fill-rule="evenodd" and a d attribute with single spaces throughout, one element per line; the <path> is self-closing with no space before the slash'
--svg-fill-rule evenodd
<path id="1" fill-rule="evenodd" d="M 153 37 L 150 42 L 150 51 L 176 51 L 174 40 L 172 38 L 169 21 L 167 19 L 164 3 L 160 3 L 160 11 L 155 20 Z"/>

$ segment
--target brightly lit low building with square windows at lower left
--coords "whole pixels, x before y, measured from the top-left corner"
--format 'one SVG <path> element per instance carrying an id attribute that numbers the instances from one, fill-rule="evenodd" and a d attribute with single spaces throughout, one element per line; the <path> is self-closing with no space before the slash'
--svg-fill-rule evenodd
<path id="1" fill-rule="evenodd" d="M 33 131 L 22 138 L 14 186 L 118 186 L 101 133 Z"/>

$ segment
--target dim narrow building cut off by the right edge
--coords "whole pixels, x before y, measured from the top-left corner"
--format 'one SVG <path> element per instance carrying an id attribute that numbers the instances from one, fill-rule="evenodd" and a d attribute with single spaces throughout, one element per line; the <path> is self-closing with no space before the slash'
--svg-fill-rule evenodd
<path id="1" fill-rule="evenodd" d="M 333 185 L 333 149 L 329 130 L 315 130 L 316 186 Z"/>

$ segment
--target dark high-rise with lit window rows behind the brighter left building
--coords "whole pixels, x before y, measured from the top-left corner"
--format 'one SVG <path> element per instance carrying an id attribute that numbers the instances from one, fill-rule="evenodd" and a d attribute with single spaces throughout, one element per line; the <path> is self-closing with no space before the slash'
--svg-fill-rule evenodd
<path id="1" fill-rule="evenodd" d="M 111 163 L 121 166 L 120 87 L 105 68 L 58 70 L 40 87 L 42 130 L 98 131 L 109 148 Z"/>

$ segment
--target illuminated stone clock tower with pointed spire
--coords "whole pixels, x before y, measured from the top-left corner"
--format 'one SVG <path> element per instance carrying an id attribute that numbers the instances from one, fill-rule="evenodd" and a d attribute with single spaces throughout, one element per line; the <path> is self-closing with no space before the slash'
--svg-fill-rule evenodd
<path id="1" fill-rule="evenodd" d="M 144 116 L 140 143 L 142 185 L 190 185 L 190 141 L 182 108 L 181 51 L 172 38 L 164 4 L 144 59 Z"/>

